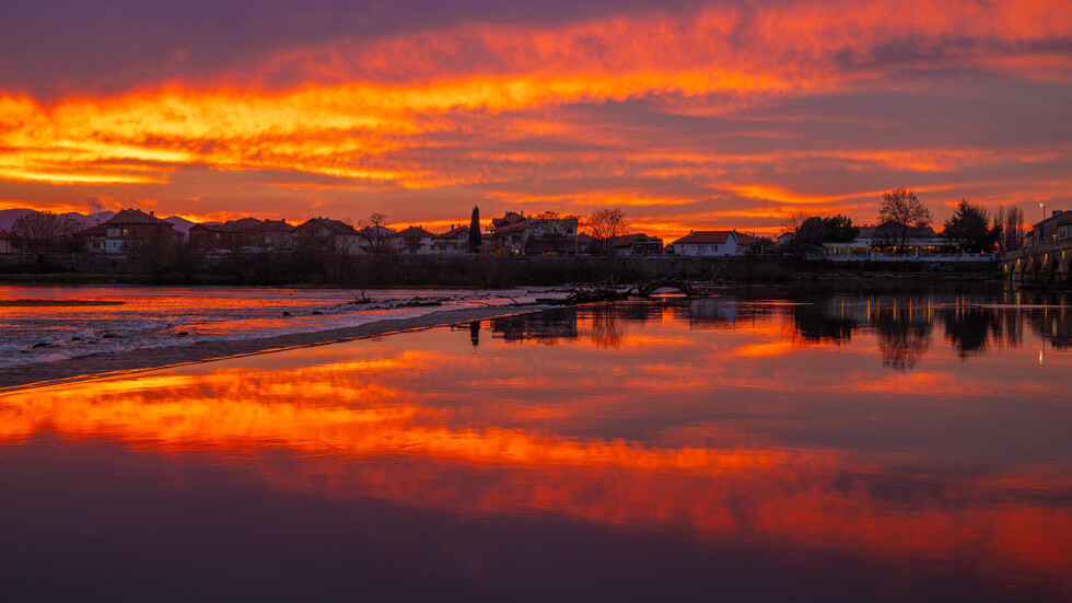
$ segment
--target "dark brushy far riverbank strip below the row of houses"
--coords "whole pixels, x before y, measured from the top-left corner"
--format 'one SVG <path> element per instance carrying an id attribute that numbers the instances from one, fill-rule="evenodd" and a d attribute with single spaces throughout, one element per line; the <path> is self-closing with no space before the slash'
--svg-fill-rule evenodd
<path id="1" fill-rule="evenodd" d="M 103 254 L 102 254 L 103 255 Z M 119 255 L 119 254 L 113 254 Z M 506 288 L 571 282 L 633 283 L 656 279 L 724 282 L 788 282 L 862 279 L 1001 280 L 997 265 L 933 265 L 911 262 L 832 263 L 789 256 L 421 256 L 368 255 L 279 258 L 254 254 L 202 257 L 166 269 L 149 269 L 136 257 L 43 256 L 33 265 L 0 262 L 0 283 L 287 286 L 375 289 L 393 287 Z M 105 262 L 107 260 L 107 262 Z M 180 268 L 180 269 L 179 269 Z"/>

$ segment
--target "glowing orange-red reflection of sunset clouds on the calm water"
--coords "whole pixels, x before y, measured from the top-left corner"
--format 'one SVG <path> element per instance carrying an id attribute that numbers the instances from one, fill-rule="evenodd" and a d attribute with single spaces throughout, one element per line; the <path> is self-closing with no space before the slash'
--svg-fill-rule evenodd
<path id="1" fill-rule="evenodd" d="M 704 563 L 718 544 L 793 552 L 767 566 L 774 581 L 844 554 L 886 568 L 871 570 L 877 589 L 925 563 L 974 599 L 1010 599 L 1012 584 L 1060 600 L 1072 596 L 1072 357 L 1053 349 L 1036 367 L 1036 325 L 1062 315 L 1036 310 L 732 295 L 560 309 L 0 396 L 0 454 L 47 437 L 88 459 L 119 442 L 218 465 L 287 505 L 656 534 L 644 558 L 702 557 L 706 573 L 678 576 L 689 584 L 732 579 L 735 566 Z M 49 519 L 0 500 L 7 517 Z M 558 537 L 541 554 L 578 543 Z M 842 564 L 835 573 L 857 567 Z M 819 598 L 837 599 L 837 583 Z"/>

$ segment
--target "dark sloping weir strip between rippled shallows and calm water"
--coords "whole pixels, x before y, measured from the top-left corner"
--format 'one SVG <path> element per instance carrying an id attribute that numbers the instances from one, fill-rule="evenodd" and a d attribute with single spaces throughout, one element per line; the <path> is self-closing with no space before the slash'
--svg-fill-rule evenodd
<path id="1" fill-rule="evenodd" d="M 373 337 L 401 331 L 482 321 L 497 316 L 538 312 L 549 306 L 488 306 L 441 310 L 408 318 L 385 318 L 359 326 L 293 333 L 263 339 L 233 341 L 202 341 L 190 346 L 147 348 L 130 351 L 101 352 L 57 360 L 0 368 L 0 392 L 30 386 L 48 385 L 75 379 L 112 375 L 148 369 L 158 369 L 189 362 L 219 360 L 234 356 L 279 351 L 304 346 L 317 346 L 346 341 L 360 337 Z"/>

